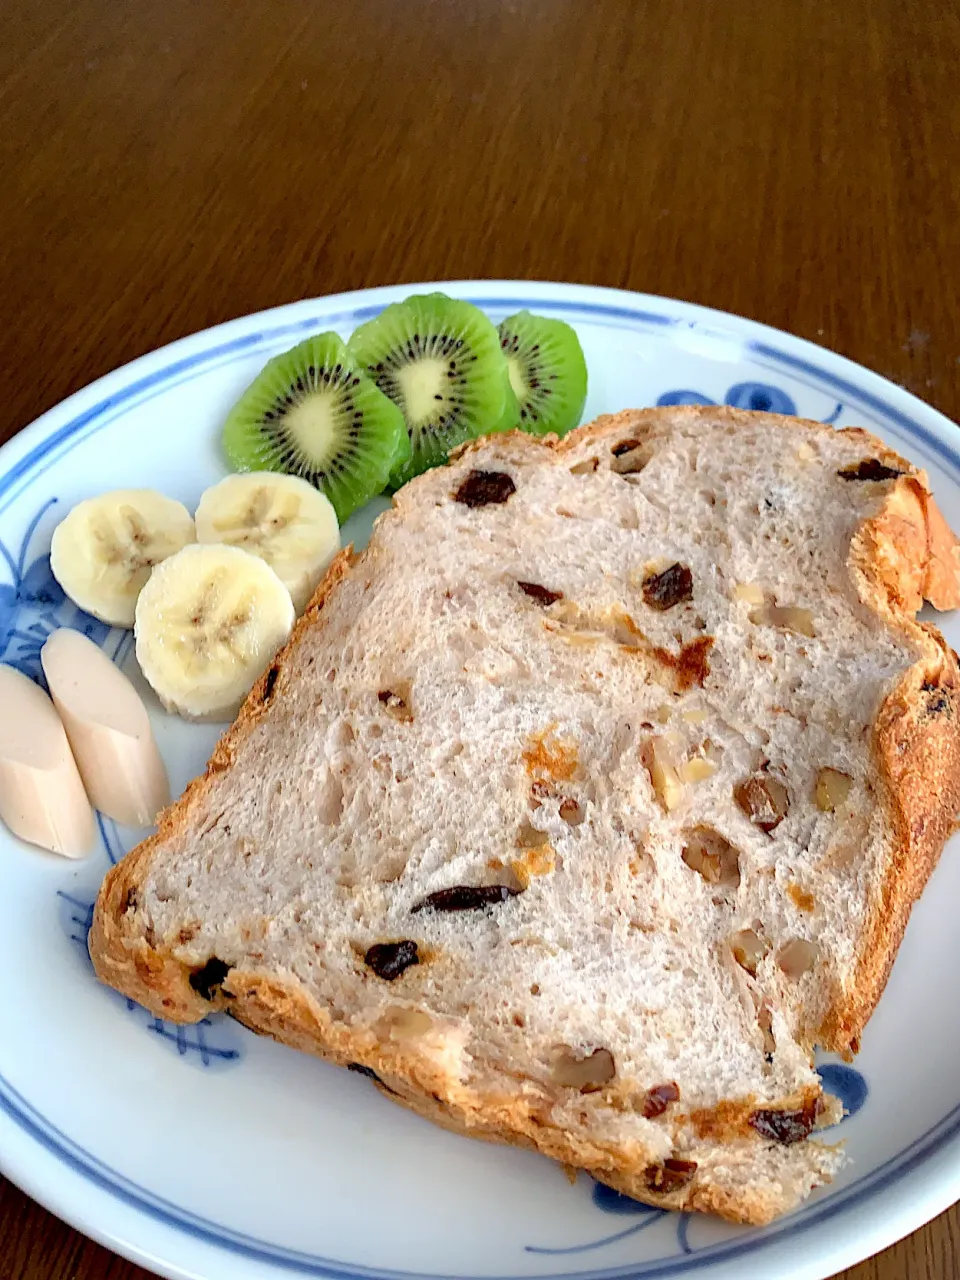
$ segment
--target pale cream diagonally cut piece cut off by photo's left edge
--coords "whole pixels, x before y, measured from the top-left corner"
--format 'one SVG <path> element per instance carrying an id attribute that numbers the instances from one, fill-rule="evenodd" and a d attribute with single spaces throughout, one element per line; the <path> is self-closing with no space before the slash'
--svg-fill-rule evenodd
<path id="1" fill-rule="evenodd" d="M 0 818 L 14 836 L 65 858 L 93 846 L 93 812 L 47 695 L 0 666 Z"/>

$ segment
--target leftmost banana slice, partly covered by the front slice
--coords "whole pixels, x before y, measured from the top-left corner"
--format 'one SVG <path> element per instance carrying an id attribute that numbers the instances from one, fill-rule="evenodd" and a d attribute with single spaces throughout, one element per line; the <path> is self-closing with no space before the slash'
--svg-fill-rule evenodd
<path id="1" fill-rule="evenodd" d="M 196 539 L 187 508 L 152 489 L 87 498 L 54 530 L 54 577 L 95 618 L 132 627 L 137 596 L 155 564 Z"/>

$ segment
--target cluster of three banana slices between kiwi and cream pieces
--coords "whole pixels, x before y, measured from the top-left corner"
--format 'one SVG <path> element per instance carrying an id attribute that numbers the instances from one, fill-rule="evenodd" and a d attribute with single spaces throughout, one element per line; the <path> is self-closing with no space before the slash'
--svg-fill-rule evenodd
<path id="1" fill-rule="evenodd" d="M 143 675 L 169 710 L 228 719 L 339 547 L 323 493 L 260 471 L 207 489 L 196 525 L 148 489 L 88 498 L 54 531 L 51 564 L 76 604 L 133 627 Z"/>

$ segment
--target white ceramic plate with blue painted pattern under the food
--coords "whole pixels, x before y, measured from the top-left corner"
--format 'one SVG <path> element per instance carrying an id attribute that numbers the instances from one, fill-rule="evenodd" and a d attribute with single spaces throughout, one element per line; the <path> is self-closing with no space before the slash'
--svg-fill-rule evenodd
<path id="1" fill-rule="evenodd" d="M 960 526 L 960 435 L 882 378 L 760 325 L 662 298 L 557 284 L 454 283 L 499 321 L 562 316 L 590 370 L 585 417 L 714 401 L 865 424 L 927 467 Z M 79 614 L 49 571 L 78 499 L 148 485 L 188 506 L 224 474 L 219 425 L 264 361 L 415 291 L 301 302 L 187 338 L 46 413 L 0 451 L 0 659 L 37 675 L 56 626 L 131 666 L 131 639 Z M 383 503 L 374 503 L 380 509 Z M 347 530 L 362 540 L 371 508 Z M 943 620 L 960 648 L 960 621 Z M 0 714 L 3 709 L 0 708 Z M 173 782 L 216 731 L 159 709 Z M 70 864 L 0 833 L 0 1169 L 113 1249 L 195 1280 L 696 1276 L 820 1280 L 960 1197 L 960 859 L 914 913 L 856 1069 L 824 1075 L 851 1116 L 838 1183 L 764 1230 L 645 1208 L 545 1160 L 452 1137 L 362 1076 L 257 1039 L 229 1019 L 175 1028 L 100 987 L 90 905 L 140 836 L 105 822 Z"/>

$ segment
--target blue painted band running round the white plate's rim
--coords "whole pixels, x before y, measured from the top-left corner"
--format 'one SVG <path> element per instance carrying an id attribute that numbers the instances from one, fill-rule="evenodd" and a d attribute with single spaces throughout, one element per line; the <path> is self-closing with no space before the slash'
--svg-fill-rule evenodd
<path id="1" fill-rule="evenodd" d="M 571 302 L 541 297 L 532 300 L 518 297 L 481 297 L 471 298 L 470 301 L 493 311 L 509 308 L 521 310 L 524 307 L 550 311 L 553 314 L 563 315 L 570 321 L 582 319 L 588 323 L 607 323 L 618 326 L 622 326 L 626 323 L 636 328 L 691 328 L 691 321 L 684 319 L 682 316 L 648 311 L 640 307 L 631 308 L 626 305 L 614 306 L 609 303 Z M 216 362 L 230 364 L 265 346 L 279 343 L 283 338 L 293 337 L 320 326 L 335 329 L 338 326 L 357 324 L 358 321 L 370 319 L 371 316 L 379 314 L 385 305 L 387 303 L 384 302 L 383 305 L 378 303 L 351 307 L 342 312 L 312 316 L 302 321 L 278 324 L 270 329 L 253 334 L 244 334 L 228 342 L 219 343 L 206 351 L 186 356 L 172 362 L 164 369 L 147 374 L 78 413 L 77 417 L 72 419 L 46 439 L 41 440 L 33 449 L 29 451 L 29 453 L 24 454 L 23 458 L 14 463 L 14 466 L 5 475 L 0 476 L 0 497 L 10 494 L 12 488 L 19 480 L 26 481 L 20 492 L 35 484 L 36 480 L 38 480 L 44 472 L 59 460 L 59 456 L 63 456 L 63 452 L 69 452 L 69 449 L 64 449 L 58 458 L 51 458 L 50 454 L 58 451 L 60 445 L 69 444 L 69 448 L 74 448 L 77 444 L 82 443 L 82 439 L 86 439 L 87 435 L 92 434 L 92 430 L 84 433 L 84 428 L 91 428 L 97 431 L 102 430 L 110 421 L 114 421 L 115 417 L 119 416 L 119 412 L 129 412 L 129 410 L 134 407 L 133 402 L 140 401 L 142 403 L 152 399 L 161 390 L 166 392 L 172 389 L 172 387 L 197 376 L 200 372 L 209 371 L 210 366 Z M 717 325 L 721 325 L 723 317 L 718 315 Z M 707 325 L 700 328 L 705 329 Z M 947 462 L 951 470 L 960 474 L 960 454 L 956 449 L 942 442 L 937 435 L 916 421 L 916 419 L 896 408 L 888 401 L 865 390 L 849 379 L 832 374 L 809 360 L 781 351 L 767 342 L 744 340 L 740 334 L 733 334 L 733 337 L 736 337 L 744 353 L 753 356 L 758 364 L 787 372 L 794 378 L 799 378 L 801 381 L 805 381 L 808 378 L 817 379 L 815 389 L 828 387 L 844 396 L 846 401 L 859 402 L 859 404 L 870 410 L 873 413 L 886 419 L 891 425 L 900 428 L 914 440 L 923 440 L 928 449 Z M 808 383 L 808 385 L 814 384 Z M 108 415 L 110 416 L 108 417 Z M 81 433 L 84 434 L 81 435 Z M 41 466 L 41 463 L 46 465 Z M 18 495 L 19 494 L 10 494 L 8 502 L 0 507 L 0 511 L 9 506 L 9 503 Z M 93 1185 L 116 1196 L 131 1207 L 147 1213 L 166 1226 L 172 1226 L 195 1239 L 204 1240 L 207 1244 L 219 1245 L 233 1253 L 241 1254 L 250 1261 L 280 1266 L 289 1271 L 305 1275 L 330 1276 L 333 1280 L 357 1280 L 357 1277 L 362 1277 L 362 1280 L 374 1280 L 374 1277 L 384 1277 L 384 1280 L 388 1280 L 389 1277 L 389 1280 L 393 1280 L 393 1277 L 421 1275 L 420 1272 L 348 1266 L 338 1262 L 337 1260 L 284 1249 L 280 1245 L 274 1245 L 269 1242 L 257 1240 L 252 1236 L 232 1231 L 229 1228 L 191 1213 L 188 1210 L 180 1208 L 179 1206 L 155 1196 L 146 1188 L 140 1187 L 115 1170 L 109 1169 L 100 1160 L 97 1160 L 96 1156 L 84 1151 L 60 1129 L 41 1116 L 3 1075 L 0 1075 L 0 1110 L 3 1110 L 24 1133 L 38 1142 L 46 1151 L 59 1158 L 73 1171 L 86 1178 Z M 765 1245 L 771 1245 L 785 1238 L 805 1233 L 810 1228 L 835 1217 L 841 1211 L 863 1202 L 869 1198 L 869 1196 L 890 1185 L 902 1174 L 909 1172 L 918 1165 L 923 1164 L 929 1158 L 929 1156 L 954 1139 L 959 1132 L 960 1106 L 950 1111 L 947 1116 L 928 1129 L 927 1133 L 914 1139 L 914 1142 L 911 1142 L 899 1155 L 892 1156 L 883 1165 L 865 1175 L 863 1179 L 859 1179 L 851 1187 L 842 1192 L 835 1192 L 822 1202 L 806 1206 L 780 1224 L 774 1224 L 771 1228 L 751 1233 L 750 1235 L 736 1240 L 707 1245 L 698 1249 L 695 1254 L 689 1257 L 672 1254 L 668 1258 L 654 1260 L 639 1265 L 635 1263 L 627 1268 L 614 1267 L 595 1271 L 561 1272 L 557 1280 L 640 1280 L 640 1277 L 680 1275 L 695 1271 L 713 1262 L 722 1260 L 727 1261 L 744 1256 L 745 1253 L 754 1253 L 758 1249 L 763 1249 Z M 454 1277 L 431 1276 L 430 1280 L 454 1280 Z M 456 1280 L 472 1280 L 472 1277 L 456 1277 Z M 489 1280 L 489 1277 L 483 1277 L 483 1280 Z M 497 1277 L 497 1280 L 507 1280 L 507 1277 Z M 527 1277 L 524 1277 L 524 1280 L 527 1280 Z M 544 1275 L 536 1276 L 536 1280 L 553 1280 L 553 1277 Z"/>

